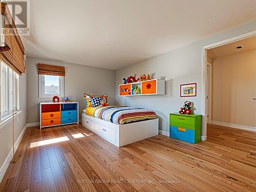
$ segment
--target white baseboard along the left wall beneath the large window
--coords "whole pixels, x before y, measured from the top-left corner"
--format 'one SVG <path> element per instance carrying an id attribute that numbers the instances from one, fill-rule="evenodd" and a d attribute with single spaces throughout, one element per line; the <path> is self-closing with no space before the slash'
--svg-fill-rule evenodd
<path id="1" fill-rule="evenodd" d="M 24 133 L 25 133 L 27 127 L 28 127 L 28 124 L 25 125 L 25 127 L 24 127 L 22 133 L 19 134 L 19 136 L 18 136 L 18 138 L 17 138 L 17 140 L 16 140 L 16 142 L 15 142 L 15 144 L 14 144 L 14 153 L 16 152 L 20 141 L 22 141 L 23 135 L 24 135 Z M 8 166 L 9 166 L 9 164 L 10 164 L 11 161 L 12 161 L 12 158 L 13 158 L 13 152 L 12 152 L 12 150 L 11 150 L 11 151 L 9 152 L 7 158 L 5 159 L 5 161 L 4 161 L 3 165 L 2 165 L 2 167 L 0 168 L 0 183 L 2 182 L 2 179 L 3 179 L 4 175 L 5 175 L 5 172 L 6 172 L 7 168 L 8 168 Z"/>

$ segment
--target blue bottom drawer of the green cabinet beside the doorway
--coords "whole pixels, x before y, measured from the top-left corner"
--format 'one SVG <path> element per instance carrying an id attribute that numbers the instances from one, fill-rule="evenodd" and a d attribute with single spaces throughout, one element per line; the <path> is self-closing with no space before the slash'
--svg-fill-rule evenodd
<path id="1" fill-rule="evenodd" d="M 170 126 L 170 137 L 195 144 L 195 131 Z"/>

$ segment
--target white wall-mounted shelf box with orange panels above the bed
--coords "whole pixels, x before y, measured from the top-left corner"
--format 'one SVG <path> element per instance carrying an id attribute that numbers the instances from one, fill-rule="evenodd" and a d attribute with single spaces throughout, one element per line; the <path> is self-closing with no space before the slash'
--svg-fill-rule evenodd
<path id="1" fill-rule="evenodd" d="M 134 86 L 141 89 L 140 94 L 132 92 Z M 164 95 L 165 80 L 151 79 L 127 84 L 119 84 L 119 96 L 139 96 L 139 95 Z"/>

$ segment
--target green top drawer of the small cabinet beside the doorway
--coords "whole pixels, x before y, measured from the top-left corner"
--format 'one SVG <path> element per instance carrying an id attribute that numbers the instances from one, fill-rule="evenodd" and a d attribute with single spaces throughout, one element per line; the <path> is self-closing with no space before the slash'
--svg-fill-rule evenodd
<path id="1" fill-rule="evenodd" d="M 195 130 L 195 117 L 170 114 L 170 125 Z"/>

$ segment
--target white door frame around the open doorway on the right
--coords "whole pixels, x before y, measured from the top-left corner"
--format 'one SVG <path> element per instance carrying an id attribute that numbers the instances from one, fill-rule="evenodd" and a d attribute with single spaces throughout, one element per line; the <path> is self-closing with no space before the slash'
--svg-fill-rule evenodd
<path id="1" fill-rule="evenodd" d="M 207 49 L 212 49 L 215 47 L 219 47 L 222 45 L 229 44 L 230 42 L 238 41 L 244 38 L 248 38 L 256 35 L 256 30 L 250 31 L 248 33 L 244 33 L 241 35 L 237 35 L 231 38 L 227 38 L 225 40 L 221 40 L 218 42 L 214 42 L 213 44 L 209 44 L 202 47 L 202 130 L 204 130 L 204 135 L 202 136 L 202 140 L 206 140 L 206 132 L 207 132 L 207 106 L 206 106 L 206 67 L 207 67 Z"/>

